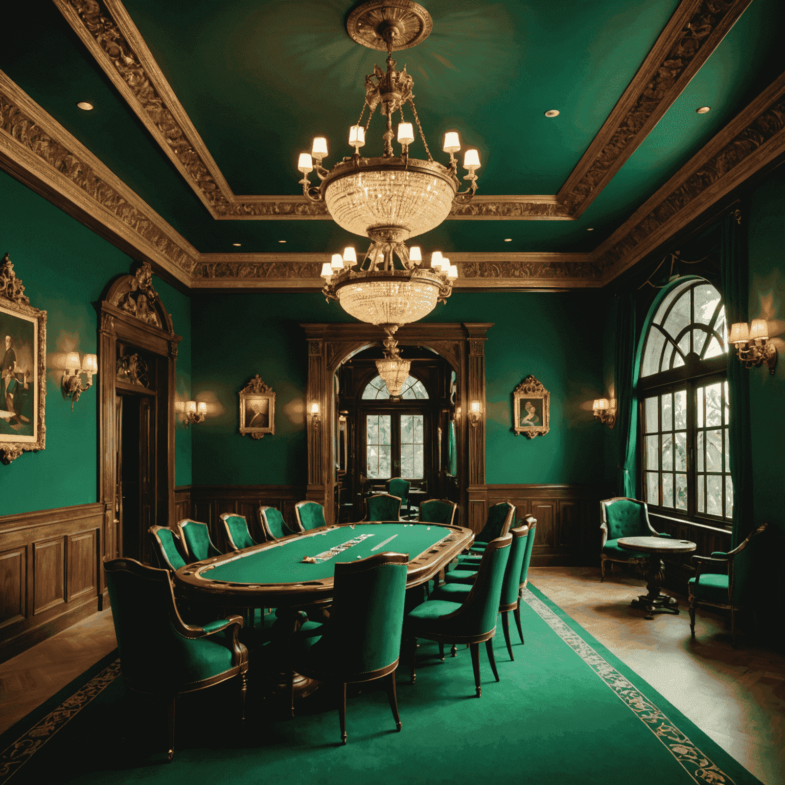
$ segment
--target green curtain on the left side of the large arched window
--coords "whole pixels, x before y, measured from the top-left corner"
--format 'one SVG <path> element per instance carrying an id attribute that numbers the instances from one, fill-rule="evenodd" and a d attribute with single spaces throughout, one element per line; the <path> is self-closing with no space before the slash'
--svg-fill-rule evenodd
<path id="1" fill-rule="evenodd" d="M 616 345 L 614 384 L 616 433 L 619 439 L 619 480 L 616 493 L 636 498 L 637 484 L 637 341 L 635 340 L 635 300 L 630 292 L 616 297 Z"/>

